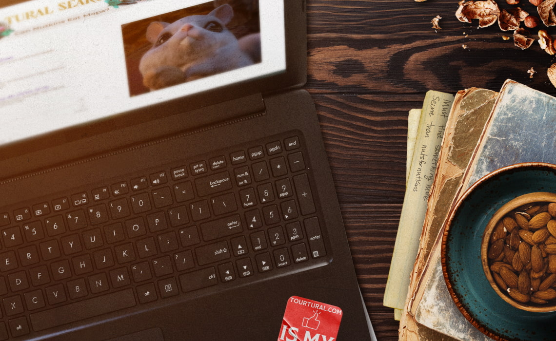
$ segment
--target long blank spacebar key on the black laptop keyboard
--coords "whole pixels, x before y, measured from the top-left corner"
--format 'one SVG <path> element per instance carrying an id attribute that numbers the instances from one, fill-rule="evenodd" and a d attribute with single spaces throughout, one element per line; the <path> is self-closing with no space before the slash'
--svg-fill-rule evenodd
<path id="1" fill-rule="evenodd" d="M 77 322 L 98 315 L 130 308 L 135 305 L 133 289 L 122 290 L 76 303 L 61 305 L 60 307 L 44 310 L 29 315 L 33 330 L 38 332 L 59 325 Z"/>

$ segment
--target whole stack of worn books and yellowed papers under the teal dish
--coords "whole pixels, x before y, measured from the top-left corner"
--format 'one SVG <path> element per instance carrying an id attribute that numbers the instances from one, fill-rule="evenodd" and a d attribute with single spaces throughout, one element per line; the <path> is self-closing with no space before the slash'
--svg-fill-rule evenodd
<path id="1" fill-rule="evenodd" d="M 556 164 L 556 98 L 511 80 L 499 92 L 429 91 L 408 122 L 406 193 L 384 305 L 400 320 L 400 340 L 490 340 L 446 288 L 444 225 L 484 175 L 521 162 Z"/>

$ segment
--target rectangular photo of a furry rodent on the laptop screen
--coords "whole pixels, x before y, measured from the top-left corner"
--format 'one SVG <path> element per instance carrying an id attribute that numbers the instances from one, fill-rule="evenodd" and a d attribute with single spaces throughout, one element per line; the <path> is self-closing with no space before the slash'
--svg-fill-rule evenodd
<path id="1" fill-rule="evenodd" d="M 258 1 L 216 0 L 122 26 L 130 94 L 261 61 Z"/>

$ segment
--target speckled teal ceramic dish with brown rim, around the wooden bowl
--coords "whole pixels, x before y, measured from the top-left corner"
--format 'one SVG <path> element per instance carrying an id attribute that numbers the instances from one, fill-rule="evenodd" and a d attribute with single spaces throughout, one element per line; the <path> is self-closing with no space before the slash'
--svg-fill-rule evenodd
<path id="1" fill-rule="evenodd" d="M 556 193 L 556 166 L 519 163 L 473 184 L 451 211 L 441 250 L 444 279 L 455 304 L 481 332 L 497 340 L 555 340 L 556 312 L 512 307 L 490 286 L 481 264 L 481 238 L 505 203 L 531 192 Z"/>

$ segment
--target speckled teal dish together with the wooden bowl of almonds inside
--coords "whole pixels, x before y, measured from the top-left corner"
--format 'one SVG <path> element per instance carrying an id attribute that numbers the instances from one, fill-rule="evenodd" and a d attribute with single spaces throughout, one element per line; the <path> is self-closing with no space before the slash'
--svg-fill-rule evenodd
<path id="1" fill-rule="evenodd" d="M 445 287 L 492 339 L 556 339 L 554 203 L 556 165 L 529 162 L 485 174 L 450 204 L 440 249 Z M 453 318 L 453 304 L 434 293 Z"/>

